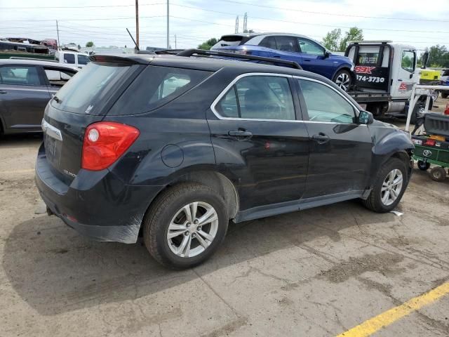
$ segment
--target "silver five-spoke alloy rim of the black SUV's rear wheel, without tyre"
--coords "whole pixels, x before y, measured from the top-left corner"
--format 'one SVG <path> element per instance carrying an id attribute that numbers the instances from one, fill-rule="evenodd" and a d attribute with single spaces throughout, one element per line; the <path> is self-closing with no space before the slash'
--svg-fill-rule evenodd
<path id="1" fill-rule="evenodd" d="M 194 201 L 183 206 L 170 221 L 168 246 L 177 256 L 192 258 L 212 244 L 217 230 L 217 211 L 206 202 Z"/>

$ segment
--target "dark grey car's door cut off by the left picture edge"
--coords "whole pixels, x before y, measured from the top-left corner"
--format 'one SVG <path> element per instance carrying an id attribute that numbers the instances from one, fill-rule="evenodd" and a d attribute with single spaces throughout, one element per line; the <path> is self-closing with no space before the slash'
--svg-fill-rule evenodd
<path id="1" fill-rule="evenodd" d="M 1 65 L 0 93 L 6 132 L 41 129 L 43 110 L 51 97 L 39 67 Z"/>

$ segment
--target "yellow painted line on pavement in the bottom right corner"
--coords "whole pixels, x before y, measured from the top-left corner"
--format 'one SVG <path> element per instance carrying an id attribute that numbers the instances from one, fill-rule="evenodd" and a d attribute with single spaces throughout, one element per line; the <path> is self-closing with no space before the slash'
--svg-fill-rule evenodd
<path id="1" fill-rule="evenodd" d="M 340 333 L 337 337 L 366 337 L 371 334 L 379 331 L 384 326 L 388 326 L 398 319 L 407 316 L 411 312 L 416 310 L 420 310 L 422 307 L 434 303 L 439 298 L 447 295 L 449 293 L 449 282 L 441 284 L 441 286 L 437 286 L 435 289 L 429 291 L 428 293 L 424 293 L 420 296 L 412 298 L 408 300 L 406 303 L 398 305 L 395 308 L 391 308 L 386 312 L 382 312 L 382 314 L 377 315 L 368 321 L 359 324 L 358 326 L 354 326 L 354 328 L 345 331 L 344 333 Z"/>

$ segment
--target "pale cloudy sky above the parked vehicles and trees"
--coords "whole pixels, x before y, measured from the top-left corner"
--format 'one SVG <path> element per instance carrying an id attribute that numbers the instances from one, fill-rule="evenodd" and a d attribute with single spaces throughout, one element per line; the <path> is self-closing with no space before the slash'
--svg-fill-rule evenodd
<path id="1" fill-rule="evenodd" d="M 248 13 L 248 29 L 256 32 L 291 32 L 321 41 L 332 29 L 344 32 L 356 26 L 363 29 L 365 39 L 394 40 L 422 49 L 434 44 L 449 47 L 449 0 L 433 0 L 429 6 L 413 0 L 370 2 L 373 6 L 360 0 L 170 0 L 170 45 L 175 48 L 175 35 L 177 48 L 189 48 L 234 33 L 236 15 L 241 32 L 243 15 Z M 93 41 L 96 46 L 129 47 L 133 42 L 126 27 L 135 33 L 134 4 L 134 0 L 0 0 L 0 37 L 56 39 L 58 20 L 61 44 L 84 46 Z M 139 4 L 141 48 L 166 47 L 166 1 L 139 0 Z"/>

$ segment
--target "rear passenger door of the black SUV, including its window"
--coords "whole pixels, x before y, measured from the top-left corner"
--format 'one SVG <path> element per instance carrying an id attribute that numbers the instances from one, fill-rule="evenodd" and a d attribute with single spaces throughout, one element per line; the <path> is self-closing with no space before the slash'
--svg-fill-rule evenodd
<path id="1" fill-rule="evenodd" d="M 241 211 L 304 193 L 309 136 L 292 86 L 290 76 L 244 74 L 207 113 L 217 164 L 236 177 Z"/>

